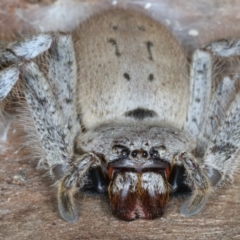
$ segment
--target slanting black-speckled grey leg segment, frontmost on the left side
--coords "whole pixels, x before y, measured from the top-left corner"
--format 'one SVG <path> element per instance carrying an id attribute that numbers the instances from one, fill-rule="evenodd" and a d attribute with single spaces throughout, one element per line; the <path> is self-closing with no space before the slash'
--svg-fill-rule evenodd
<path id="1" fill-rule="evenodd" d="M 24 64 L 22 72 L 24 94 L 46 163 L 49 168 L 57 164 L 64 165 L 73 155 L 73 146 L 69 142 L 69 129 L 51 86 L 33 62 Z"/>

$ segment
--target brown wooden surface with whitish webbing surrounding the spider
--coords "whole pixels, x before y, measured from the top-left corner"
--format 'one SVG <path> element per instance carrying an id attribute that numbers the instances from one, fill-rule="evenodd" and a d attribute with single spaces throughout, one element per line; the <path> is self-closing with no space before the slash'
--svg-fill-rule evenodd
<path id="1" fill-rule="evenodd" d="M 240 0 L 196 2 L 1 0 L 0 37 L 13 39 L 36 27 L 71 30 L 111 4 L 146 9 L 189 52 L 214 39 L 240 35 Z M 239 176 L 194 217 L 182 217 L 178 212 L 181 200 L 172 200 L 161 219 L 122 222 L 111 215 L 107 199 L 79 197 L 79 221 L 63 221 L 52 182 L 27 157 L 16 122 L 17 117 L 10 116 L 0 123 L 0 239 L 240 239 Z"/>

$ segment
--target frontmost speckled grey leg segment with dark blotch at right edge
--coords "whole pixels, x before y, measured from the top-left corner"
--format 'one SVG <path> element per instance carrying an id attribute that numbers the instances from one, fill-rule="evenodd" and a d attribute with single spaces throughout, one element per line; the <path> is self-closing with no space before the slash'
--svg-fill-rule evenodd
<path id="1" fill-rule="evenodd" d="M 240 93 L 232 101 L 222 125 L 207 147 L 204 164 L 222 174 L 222 181 L 232 180 L 239 167 L 240 149 Z M 221 182 L 222 182 L 221 181 Z"/>

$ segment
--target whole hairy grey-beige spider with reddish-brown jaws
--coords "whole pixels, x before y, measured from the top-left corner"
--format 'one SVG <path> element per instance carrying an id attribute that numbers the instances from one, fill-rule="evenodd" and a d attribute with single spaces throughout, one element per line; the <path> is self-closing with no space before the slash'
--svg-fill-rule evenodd
<path id="1" fill-rule="evenodd" d="M 123 9 L 71 34 L 2 44 L 2 105 L 21 100 L 26 141 L 55 179 L 62 218 L 77 221 L 79 191 L 107 193 L 127 221 L 161 217 L 182 192 L 180 213 L 198 213 L 238 165 L 239 78 L 216 72 L 239 45 L 213 42 L 188 64 L 163 25 Z"/>

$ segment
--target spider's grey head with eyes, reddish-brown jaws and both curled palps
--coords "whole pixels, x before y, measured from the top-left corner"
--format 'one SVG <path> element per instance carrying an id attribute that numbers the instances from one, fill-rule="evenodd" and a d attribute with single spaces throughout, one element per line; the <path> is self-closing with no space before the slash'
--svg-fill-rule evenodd
<path id="1" fill-rule="evenodd" d="M 67 221 L 77 220 L 74 195 L 89 182 L 95 192 L 108 193 L 115 216 L 131 221 L 161 217 L 169 195 L 182 189 L 192 193 L 180 212 L 196 214 L 218 178 L 194 157 L 195 141 L 172 127 L 100 126 L 79 139 L 80 157 L 59 184 L 59 211 Z"/>

